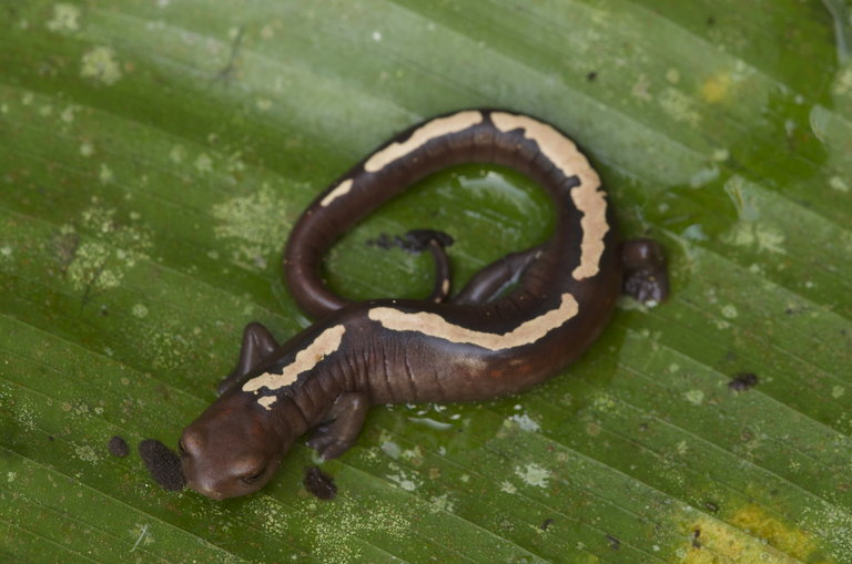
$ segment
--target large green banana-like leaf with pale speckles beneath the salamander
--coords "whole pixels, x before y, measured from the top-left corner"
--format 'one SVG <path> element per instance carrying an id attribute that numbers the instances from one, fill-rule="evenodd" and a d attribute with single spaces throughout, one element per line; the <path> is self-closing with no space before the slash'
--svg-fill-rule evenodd
<path id="1" fill-rule="evenodd" d="M 849 2 L 6 0 L 0 30 L 2 560 L 852 562 Z M 311 322 L 278 265 L 301 211 L 467 106 L 569 132 L 671 299 L 521 396 L 374 408 L 332 502 L 303 445 L 255 496 L 161 490 L 135 447 L 175 444 L 243 325 Z M 454 168 L 328 278 L 423 296 L 428 257 L 369 239 L 449 232 L 458 286 L 551 216 Z"/>

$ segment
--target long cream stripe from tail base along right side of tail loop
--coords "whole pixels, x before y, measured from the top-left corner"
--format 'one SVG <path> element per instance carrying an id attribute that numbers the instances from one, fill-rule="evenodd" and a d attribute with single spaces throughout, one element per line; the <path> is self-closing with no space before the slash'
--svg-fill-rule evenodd
<path id="1" fill-rule="evenodd" d="M 504 133 L 523 130 L 524 136 L 535 141 L 538 150 L 550 160 L 566 176 L 576 175 L 580 185 L 571 189 L 571 201 L 582 214 L 580 227 L 580 264 L 571 276 L 576 280 L 590 278 L 600 270 L 600 257 L 604 254 L 604 236 L 609 230 L 607 222 L 607 199 L 600 191 L 600 176 L 579 152 L 571 140 L 552 126 L 526 115 L 506 112 L 491 113 L 491 122 Z"/>

